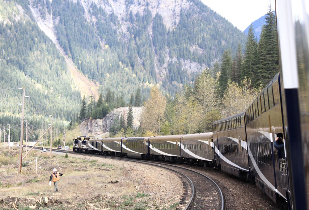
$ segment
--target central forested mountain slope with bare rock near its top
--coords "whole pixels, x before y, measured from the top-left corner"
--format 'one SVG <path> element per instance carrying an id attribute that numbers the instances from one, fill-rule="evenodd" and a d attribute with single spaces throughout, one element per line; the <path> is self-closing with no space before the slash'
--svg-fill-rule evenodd
<path id="1" fill-rule="evenodd" d="M 52 14 L 65 54 L 103 91 L 123 92 L 127 100 L 138 86 L 145 97 L 157 83 L 173 96 L 224 50 L 245 42 L 200 1 L 47 1 L 32 8 L 42 18 Z"/>

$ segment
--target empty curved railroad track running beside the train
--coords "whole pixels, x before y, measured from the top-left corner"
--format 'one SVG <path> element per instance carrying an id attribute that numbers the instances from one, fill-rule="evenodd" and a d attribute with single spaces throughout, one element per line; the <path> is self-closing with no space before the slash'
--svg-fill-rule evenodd
<path id="1" fill-rule="evenodd" d="M 34 147 L 34 148 L 41 149 L 41 147 Z M 46 148 L 46 151 L 49 151 L 49 149 Z M 184 193 L 182 195 L 182 198 L 180 199 L 181 202 L 176 209 L 179 210 L 226 209 L 226 200 L 218 184 L 214 182 L 214 180 L 210 179 L 208 176 L 200 172 L 196 172 L 192 169 L 180 167 L 173 164 L 166 164 L 166 163 L 159 163 L 145 160 L 135 160 L 115 156 L 105 156 L 105 155 L 100 156 L 88 153 L 77 153 L 73 151 L 57 150 L 57 149 L 52 149 L 52 151 L 75 154 L 75 155 L 104 157 L 114 160 L 124 160 L 164 168 L 177 174 L 177 176 L 183 183 Z"/>

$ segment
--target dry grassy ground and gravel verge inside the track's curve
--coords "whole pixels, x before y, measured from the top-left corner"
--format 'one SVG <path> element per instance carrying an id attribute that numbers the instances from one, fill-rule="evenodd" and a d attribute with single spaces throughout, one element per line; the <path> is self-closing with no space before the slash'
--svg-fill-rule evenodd
<path id="1" fill-rule="evenodd" d="M 160 168 L 53 154 L 64 173 L 54 193 L 49 176 L 60 170 L 49 153 L 31 151 L 19 174 L 19 148 L 0 151 L 0 209 L 176 209 L 183 193 L 180 179 Z"/>

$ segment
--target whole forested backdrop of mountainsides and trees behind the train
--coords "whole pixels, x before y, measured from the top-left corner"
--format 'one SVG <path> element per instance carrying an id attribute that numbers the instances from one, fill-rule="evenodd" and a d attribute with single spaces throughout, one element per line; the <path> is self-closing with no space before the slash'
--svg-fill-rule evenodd
<path id="1" fill-rule="evenodd" d="M 119 107 L 128 113 L 114 119 L 110 136 L 209 132 L 244 111 L 279 71 L 270 6 L 256 39 L 252 25 L 246 35 L 199 0 L 158 5 L 0 1 L 0 129 L 10 124 L 19 141 L 17 88 L 25 87 L 24 136 L 37 139 L 53 115 L 56 146 L 63 132 Z M 143 107 L 137 129 L 132 107 Z"/>

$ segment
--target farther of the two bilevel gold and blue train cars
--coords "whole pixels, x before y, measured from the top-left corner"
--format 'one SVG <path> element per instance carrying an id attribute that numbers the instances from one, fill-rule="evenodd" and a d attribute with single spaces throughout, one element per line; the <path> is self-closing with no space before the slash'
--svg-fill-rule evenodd
<path id="1" fill-rule="evenodd" d="M 214 163 L 226 173 L 249 179 L 245 113 L 213 123 Z"/>

